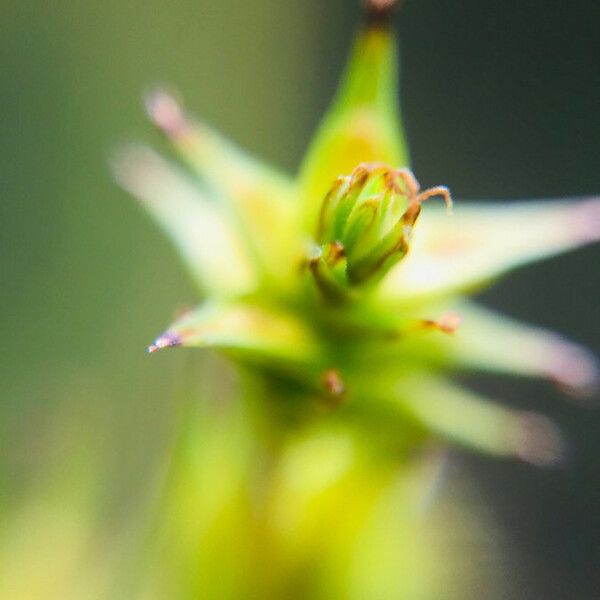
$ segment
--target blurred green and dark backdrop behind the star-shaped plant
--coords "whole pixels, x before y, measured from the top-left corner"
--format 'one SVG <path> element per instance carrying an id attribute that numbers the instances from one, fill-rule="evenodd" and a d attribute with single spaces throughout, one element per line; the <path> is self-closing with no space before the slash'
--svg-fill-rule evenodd
<path id="1" fill-rule="evenodd" d="M 333 93 L 357 2 L 0 6 L 0 522 L 45 478 L 93 505 L 108 539 L 144 506 L 179 376 L 207 368 L 199 352 L 144 353 L 195 297 L 163 236 L 111 181 L 111 152 L 155 140 L 141 92 L 168 83 L 293 171 Z M 443 182 L 458 201 L 600 192 L 597 2 L 411 0 L 396 20 L 423 185 Z M 484 300 L 598 354 L 599 265 L 598 247 L 582 250 L 514 274 Z M 549 471 L 455 457 L 518 557 L 526 585 L 510 600 L 596 598 L 600 413 L 545 384 L 474 383 L 552 415 L 571 444 L 568 464 Z"/>

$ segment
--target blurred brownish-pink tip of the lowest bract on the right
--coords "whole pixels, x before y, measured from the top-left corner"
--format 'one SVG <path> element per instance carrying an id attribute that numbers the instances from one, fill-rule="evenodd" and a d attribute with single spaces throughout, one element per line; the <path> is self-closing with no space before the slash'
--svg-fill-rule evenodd
<path id="1" fill-rule="evenodd" d="M 521 413 L 514 443 L 517 456 L 533 465 L 556 466 L 565 458 L 566 446 L 558 427 L 538 413 Z"/>

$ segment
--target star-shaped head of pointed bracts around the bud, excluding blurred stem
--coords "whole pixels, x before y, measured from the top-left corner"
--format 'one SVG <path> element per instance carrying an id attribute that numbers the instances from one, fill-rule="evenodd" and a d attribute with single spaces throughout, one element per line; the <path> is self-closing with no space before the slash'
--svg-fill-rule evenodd
<path id="1" fill-rule="evenodd" d="M 421 442 L 552 462 L 561 441 L 546 418 L 448 374 L 593 388 L 598 372 L 585 349 L 468 294 L 597 241 L 600 200 L 458 201 L 450 211 L 446 187 L 421 189 L 397 102 L 393 4 L 365 3 L 337 95 L 296 178 L 239 150 L 167 91 L 148 95 L 147 113 L 176 160 L 126 148 L 116 177 L 171 238 L 205 297 L 149 351 L 214 348 L 293 388 L 300 412 L 313 414 L 325 399 L 352 419 L 391 416 L 399 439 L 418 431 Z"/>

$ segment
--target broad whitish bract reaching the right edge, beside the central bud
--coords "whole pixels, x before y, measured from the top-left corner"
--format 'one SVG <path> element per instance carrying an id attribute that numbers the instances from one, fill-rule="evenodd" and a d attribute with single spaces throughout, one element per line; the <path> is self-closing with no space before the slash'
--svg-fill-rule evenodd
<path id="1" fill-rule="evenodd" d="M 600 239 L 600 199 L 432 207 L 381 297 L 415 302 L 482 286 L 521 265 Z"/>

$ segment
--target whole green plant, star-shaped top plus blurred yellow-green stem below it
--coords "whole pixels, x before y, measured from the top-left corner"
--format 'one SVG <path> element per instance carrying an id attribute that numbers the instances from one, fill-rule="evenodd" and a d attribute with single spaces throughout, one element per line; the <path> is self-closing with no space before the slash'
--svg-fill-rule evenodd
<path id="1" fill-rule="evenodd" d="M 563 444 L 544 416 L 452 375 L 542 377 L 577 394 L 596 383 L 585 350 L 468 294 L 598 240 L 600 201 L 452 206 L 443 182 L 421 189 L 397 103 L 393 4 L 365 4 L 296 177 L 165 90 L 146 109 L 177 160 L 144 146 L 115 160 L 203 297 L 149 351 L 213 348 L 245 377 L 235 401 L 190 399 L 144 597 L 449 597 L 435 573 L 451 559 L 423 528 L 440 448 L 548 464 Z"/>

